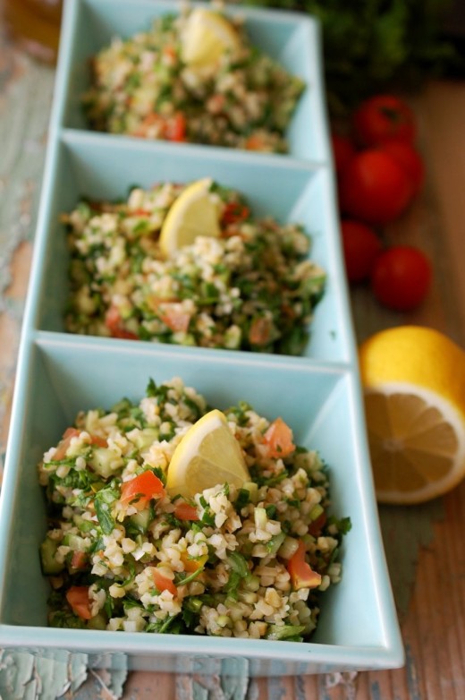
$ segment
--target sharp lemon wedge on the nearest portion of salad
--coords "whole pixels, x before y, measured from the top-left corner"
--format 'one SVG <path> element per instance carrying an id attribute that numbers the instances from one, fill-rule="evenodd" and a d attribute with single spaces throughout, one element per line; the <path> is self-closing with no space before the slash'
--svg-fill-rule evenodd
<path id="1" fill-rule="evenodd" d="M 190 499 L 219 483 L 241 487 L 249 480 L 241 446 L 224 414 L 215 409 L 194 423 L 174 450 L 166 489 L 171 496 L 180 493 Z"/>

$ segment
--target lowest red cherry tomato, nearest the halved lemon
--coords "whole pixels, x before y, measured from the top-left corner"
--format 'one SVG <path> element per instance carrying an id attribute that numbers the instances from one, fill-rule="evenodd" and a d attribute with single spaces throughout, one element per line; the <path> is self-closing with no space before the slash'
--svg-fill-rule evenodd
<path id="1" fill-rule="evenodd" d="M 431 264 L 423 252 L 395 245 L 376 258 L 371 288 L 379 303 L 397 312 L 409 312 L 426 297 L 431 277 Z"/>

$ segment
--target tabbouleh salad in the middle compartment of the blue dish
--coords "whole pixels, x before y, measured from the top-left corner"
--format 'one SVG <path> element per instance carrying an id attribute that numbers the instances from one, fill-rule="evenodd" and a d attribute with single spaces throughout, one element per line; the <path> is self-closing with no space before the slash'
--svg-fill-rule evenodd
<path id="1" fill-rule="evenodd" d="M 123 337 L 301 354 L 325 272 L 302 226 L 252 218 L 239 192 L 212 183 L 221 235 L 164 259 L 158 237 L 185 184 L 136 187 L 119 203 L 81 201 L 63 216 L 71 254 L 65 326 Z"/>

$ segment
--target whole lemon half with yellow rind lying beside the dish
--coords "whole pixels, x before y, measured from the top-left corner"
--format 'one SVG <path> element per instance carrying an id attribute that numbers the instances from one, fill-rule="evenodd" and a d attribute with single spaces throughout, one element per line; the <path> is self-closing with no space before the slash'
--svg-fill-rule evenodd
<path id="1" fill-rule="evenodd" d="M 359 347 L 376 498 L 420 503 L 465 475 L 465 353 L 444 334 L 399 326 Z"/>

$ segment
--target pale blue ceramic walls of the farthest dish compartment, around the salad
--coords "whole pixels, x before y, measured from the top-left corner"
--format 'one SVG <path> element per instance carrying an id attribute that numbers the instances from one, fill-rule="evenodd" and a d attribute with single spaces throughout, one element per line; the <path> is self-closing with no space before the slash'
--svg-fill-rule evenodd
<path id="1" fill-rule="evenodd" d="M 192 7 L 201 3 L 191 3 Z M 178 13 L 176 0 L 72 0 L 65 7 L 55 89 L 55 124 L 89 128 L 81 96 L 89 89 L 90 59 L 112 38 L 130 38 L 148 30 L 167 13 Z M 289 155 L 329 161 L 321 73 L 319 24 L 303 13 L 226 6 L 226 13 L 245 17 L 251 42 L 306 85 L 286 133 Z M 118 137 L 122 138 L 122 137 Z M 132 139 L 131 139 L 132 140 Z M 176 148 L 176 146 L 174 146 Z M 269 158 L 268 162 L 269 162 Z"/>

